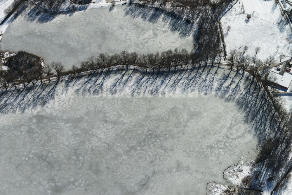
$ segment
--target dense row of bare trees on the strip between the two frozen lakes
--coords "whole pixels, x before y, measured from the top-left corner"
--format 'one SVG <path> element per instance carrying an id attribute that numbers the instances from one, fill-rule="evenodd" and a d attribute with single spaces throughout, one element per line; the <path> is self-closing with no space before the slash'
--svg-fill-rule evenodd
<path id="1" fill-rule="evenodd" d="M 107 69 L 111 71 L 115 66 L 124 66 L 126 69 L 129 66 L 133 66 L 133 69 L 140 67 L 143 71 L 161 71 L 167 69 L 168 71 L 176 70 L 184 67 L 189 69 L 196 66 L 208 65 L 211 63 L 220 64 L 223 59 L 222 49 L 215 54 L 201 55 L 200 53 L 188 52 L 186 49 L 167 50 L 161 53 L 148 53 L 138 54 L 136 52 L 122 51 L 119 54 L 109 55 L 107 53 L 101 53 L 98 57 L 90 57 L 87 61 L 83 61 L 80 64 L 80 71 L 103 71 Z M 72 73 L 78 73 L 77 66 L 73 65 L 71 68 Z"/>

